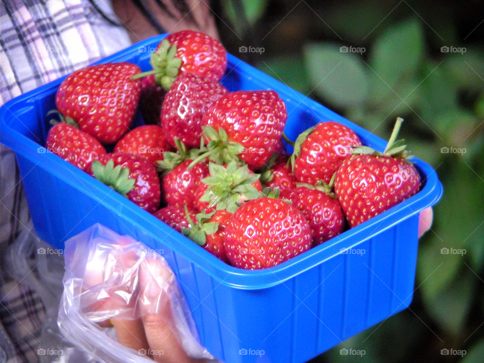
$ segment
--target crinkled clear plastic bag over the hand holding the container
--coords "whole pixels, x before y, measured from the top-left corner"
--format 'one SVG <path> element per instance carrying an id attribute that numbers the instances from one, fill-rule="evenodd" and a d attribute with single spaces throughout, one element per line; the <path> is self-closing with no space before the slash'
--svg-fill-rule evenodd
<path id="1" fill-rule="evenodd" d="M 66 273 L 57 324 L 67 340 L 106 363 L 152 362 L 145 354 L 154 358 L 161 354 L 159 361 L 171 362 L 176 348 L 183 349 L 188 357 L 213 358 L 199 343 L 176 277 L 155 251 L 95 224 L 66 241 L 64 257 Z M 109 322 L 114 328 L 102 327 Z M 140 343 L 134 350 L 125 346 L 126 339 L 125 345 L 114 340 L 122 340 L 119 335 L 124 326 L 128 329 L 136 322 L 143 323 L 145 331 L 147 325 L 152 328 L 162 322 L 170 335 L 163 346 L 166 348 L 152 349 L 159 345 L 150 341 L 148 347 Z M 133 331 L 132 335 L 138 342 L 129 343 L 136 346 L 137 333 Z"/>

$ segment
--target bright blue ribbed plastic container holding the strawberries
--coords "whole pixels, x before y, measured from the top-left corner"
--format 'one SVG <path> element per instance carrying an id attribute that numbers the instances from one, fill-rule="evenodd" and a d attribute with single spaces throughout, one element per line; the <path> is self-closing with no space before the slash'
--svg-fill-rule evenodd
<path id="1" fill-rule="evenodd" d="M 133 62 L 149 70 L 163 36 L 98 63 Z M 43 147 L 46 113 L 63 79 L 0 108 L 1 141 L 16 152 L 35 230 L 56 248 L 94 223 L 160 250 L 187 297 L 202 344 L 222 361 L 299 363 L 405 309 L 412 300 L 418 213 L 437 203 L 442 185 L 415 159 L 422 189 L 415 196 L 283 264 L 247 271 L 228 266 L 126 198 Z M 285 133 L 294 140 L 325 120 L 342 123 L 362 142 L 385 141 L 228 55 L 222 83 L 230 90 L 272 89 L 286 102 Z M 143 122 L 138 114 L 136 124 Z"/>

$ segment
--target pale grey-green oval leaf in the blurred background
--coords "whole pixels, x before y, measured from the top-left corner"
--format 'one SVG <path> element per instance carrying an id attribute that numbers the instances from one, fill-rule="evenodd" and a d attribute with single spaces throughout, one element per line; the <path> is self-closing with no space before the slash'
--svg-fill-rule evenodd
<path id="1" fill-rule="evenodd" d="M 359 55 L 337 45 L 311 43 L 304 48 L 311 84 L 336 106 L 361 105 L 368 98 L 368 75 Z"/>

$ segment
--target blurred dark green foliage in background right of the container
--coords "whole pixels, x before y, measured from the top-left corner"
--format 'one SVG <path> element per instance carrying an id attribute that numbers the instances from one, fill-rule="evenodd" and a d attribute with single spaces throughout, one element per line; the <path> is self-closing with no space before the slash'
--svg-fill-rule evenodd
<path id="1" fill-rule="evenodd" d="M 242 21 L 233 3 L 222 3 L 230 24 L 252 37 L 222 36 L 229 51 L 244 56 L 239 45 L 265 46 L 256 67 L 385 139 L 404 117 L 410 150 L 444 185 L 420 240 L 410 309 L 314 361 L 484 362 L 482 4 L 240 0 Z M 342 347 L 366 354 L 350 358 Z M 466 354 L 441 355 L 443 348 Z"/>

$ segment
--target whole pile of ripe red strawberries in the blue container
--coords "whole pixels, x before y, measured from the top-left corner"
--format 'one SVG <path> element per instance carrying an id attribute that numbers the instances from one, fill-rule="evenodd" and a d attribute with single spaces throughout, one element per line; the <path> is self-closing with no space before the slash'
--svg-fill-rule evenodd
<path id="1" fill-rule="evenodd" d="M 46 147 L 228 264 L 275 266 L 420 188 L 396 141 L 401 118 L 383 153 L 328 121 L 300 134 L 288 155 L 284 101 L 222 86 L 217 40 L 173 33 L 150 64 L 145 73 L 116 63 L 68 76 Z M 146 125 L 131 129 L 138 108 Z"/>

